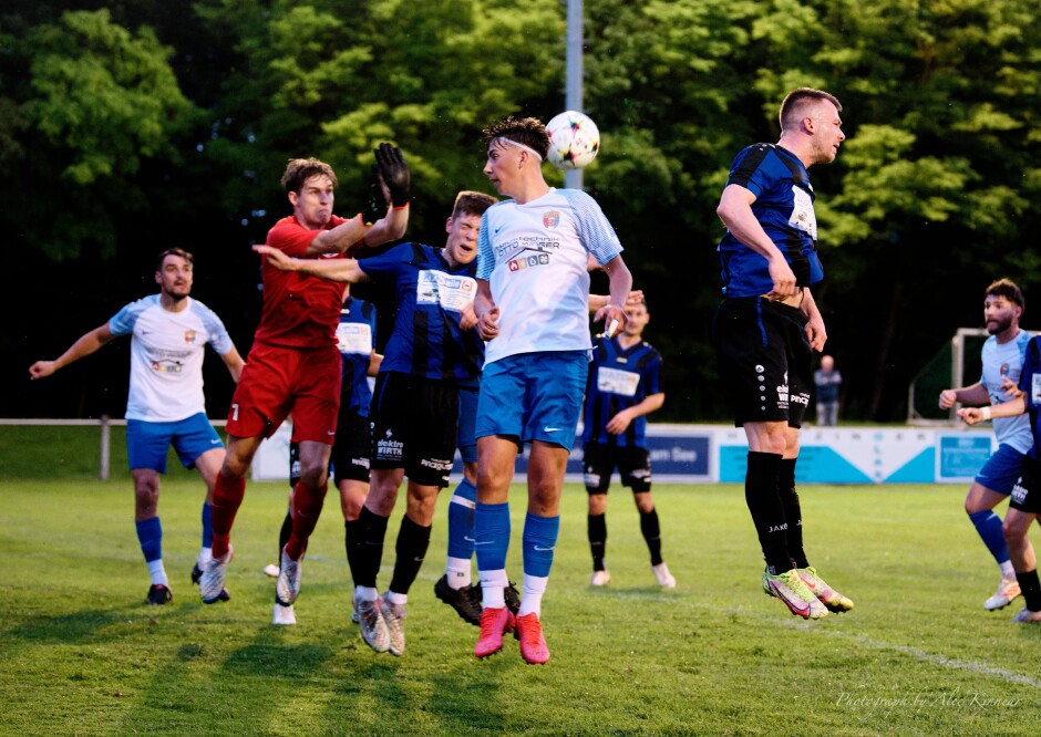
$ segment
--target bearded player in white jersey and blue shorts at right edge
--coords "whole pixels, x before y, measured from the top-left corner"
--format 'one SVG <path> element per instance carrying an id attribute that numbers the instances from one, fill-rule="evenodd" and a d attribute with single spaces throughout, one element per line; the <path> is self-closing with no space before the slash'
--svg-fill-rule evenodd
<path id="1" fill-rule="evenodd" d="M 1019 326 L 1023 308 L 1023 293 L 1011 280 L 999 279 L 987 288 L 983 293 L 983 321 L 990 338 L 983 343 L 980 354 L 983 374 L 980 381 L 971 386 L 940 392 L 941 409 L 950 409 L 955 403 L 989 407 L 1003 404 L 1016 396 L 1009 388 L 1019 385 L 1027 344 L 1031 338 L 1030 333 Z M 993 511 L 998 504 L 1008 498 L 1023 473 L 1023 457 L 1033 446 L 1030 417 L 1018 415 L 994 418 L 993 427 L 998 449 L 983 464 L 965 499 L 966 513 L 1001 571 L 998 590 L 983 602 L 983 609 L 987 610 L 1003 609 L 1020 595 L 1013 570 L 1019 567 L 1014 565 L 1010 552 L 1020 558 L 1029 556 L 1029 559 L 1033 560 L 1033 548 L 1025 536 L 1025 529 L 1020 534 L 1013 534 L 1014 544 L 1010 551 L 1006 540 L 1009 537 L 1008 519 L 1002 532 L 1001 518 Z"/>

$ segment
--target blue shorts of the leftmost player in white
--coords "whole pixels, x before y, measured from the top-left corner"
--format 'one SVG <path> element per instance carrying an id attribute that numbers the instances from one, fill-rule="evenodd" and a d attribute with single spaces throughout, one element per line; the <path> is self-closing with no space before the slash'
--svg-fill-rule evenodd
<path id="1" fill-rule="evenodd" d="M 131 470 L 151 468 L 165 474 L 171 445 L 185 468 L 195 466 L 195 459 L 207 450 L 224 447 L 217 430 L 202 412 L 175 423 L 126 421 L 126 456 Z"/>

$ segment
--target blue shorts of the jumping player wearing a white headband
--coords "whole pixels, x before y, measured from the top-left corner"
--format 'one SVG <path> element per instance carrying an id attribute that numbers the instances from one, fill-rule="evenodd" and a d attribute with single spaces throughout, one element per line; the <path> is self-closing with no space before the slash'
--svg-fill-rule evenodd
<path id="1" fill-rule="evenodd" d="M 588 372 L 587 351 L 519 353 L 486 364 L 475 436 L 504 435 L 517 445 L 543 440 L 570 450 Z"/>

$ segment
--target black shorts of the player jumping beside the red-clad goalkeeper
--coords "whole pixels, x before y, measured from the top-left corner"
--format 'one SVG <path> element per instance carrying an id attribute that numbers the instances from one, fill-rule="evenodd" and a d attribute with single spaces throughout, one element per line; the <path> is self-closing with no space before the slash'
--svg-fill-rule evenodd
<path id="1" fill-rule="evenodd" d="M 458 386 L 396 372 L 375 380 L 369 424 L 373 468 L 404 468 L 414 484 L 444 488 L 455 457 Z"/>

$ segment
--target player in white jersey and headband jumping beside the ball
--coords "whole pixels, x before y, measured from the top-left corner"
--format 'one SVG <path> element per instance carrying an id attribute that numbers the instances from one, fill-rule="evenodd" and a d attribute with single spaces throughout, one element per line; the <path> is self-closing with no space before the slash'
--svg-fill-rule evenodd
<path id="1" fill-rule="evenodd" d="M 477 404 L 477 504 L 474 537 L 481 575 L 481 636 L 485 657 L 516 626 L 520 655 L 545 663 L 549 650 L 540 611 L 560 527 L 564 471 L 581 414 L 588 371 L 590 255 L 605 270 L 610 301 L 597 311 L 614 329 L 626 321 L 632 276 L 621 243 L 596 200 L 554 189 L 543 178 L 549 146 L 536 118 L 507 117 L 484 131 L 484 173 L 511 199 L 484 214 L 477 243 L 474 312 L 488 341 Z M 614 330 L 609 329 L 609 330 Z M 524 592 L 516 617 L 505 605 L 508 585 L 509 484 L 525 443 L 528 505 L 524 522 Z"/>

